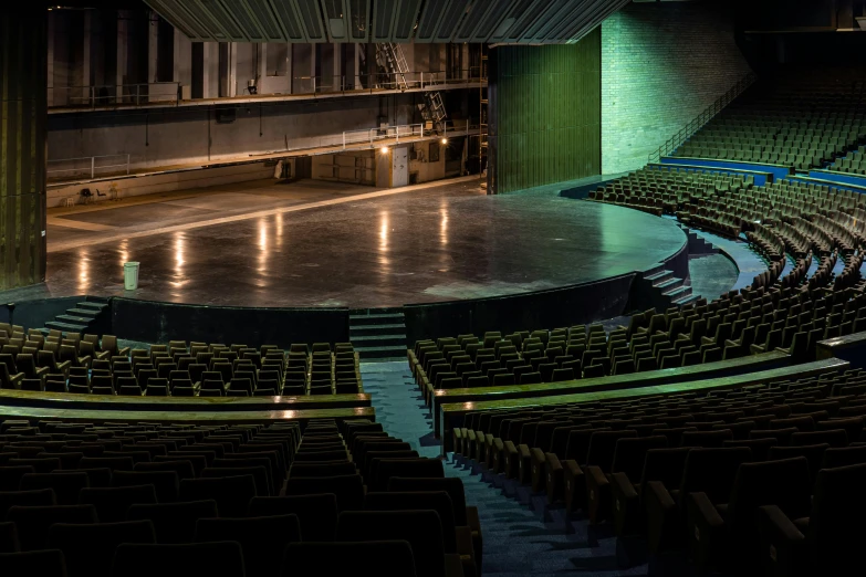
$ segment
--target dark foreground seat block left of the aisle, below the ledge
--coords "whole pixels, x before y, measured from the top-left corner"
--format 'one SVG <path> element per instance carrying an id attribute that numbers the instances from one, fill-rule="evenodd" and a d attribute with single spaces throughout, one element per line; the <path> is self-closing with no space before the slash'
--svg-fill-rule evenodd
<path id="1" fill-rule="evenodd" d="M 438 459 L 367 420 L 0 424 L 0 573 L 480 575 Z"/>

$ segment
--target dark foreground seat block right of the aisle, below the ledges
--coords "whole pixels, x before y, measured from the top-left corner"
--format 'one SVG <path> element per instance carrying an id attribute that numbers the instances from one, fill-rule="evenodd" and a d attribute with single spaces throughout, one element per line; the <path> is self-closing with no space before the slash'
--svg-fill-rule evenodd
<path id="1" fill-rule="evenodd" d="M 699 571 L 853 575 L 866 526 L 845 520 L 866 514 L 865 378 L 474 411 L 453 447 L 609 527 L 622 559 L 648 548 L 688 554 Z"/>

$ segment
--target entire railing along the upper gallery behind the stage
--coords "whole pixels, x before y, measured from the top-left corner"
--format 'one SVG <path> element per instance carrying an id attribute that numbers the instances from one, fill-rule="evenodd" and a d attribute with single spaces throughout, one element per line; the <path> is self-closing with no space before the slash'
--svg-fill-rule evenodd
<path id="1" fill-rule="evenodd" d="M 334 76 L 267 76 L 257 87 L 238 83 L 234 96 L 192 98 L 189 86 L 179 82 L 123 84 L 104 86 L 53 86 L 48 90 L 49 108 L 88 109 L 113 107 L 147 107 L 154 105 L 186 105 L 242 99 L 274 99 L 280 97 L 316 97 L 319 95 L 361 95 L 405 90 L 446 90 L 450 86 L 480 84 L 487 78 L 479 67 L 446 72 L 376 73 Z M 269 86 L 279 85 L 278 90 Z M 267 93 L 262 91 L 268 91 Z"/>

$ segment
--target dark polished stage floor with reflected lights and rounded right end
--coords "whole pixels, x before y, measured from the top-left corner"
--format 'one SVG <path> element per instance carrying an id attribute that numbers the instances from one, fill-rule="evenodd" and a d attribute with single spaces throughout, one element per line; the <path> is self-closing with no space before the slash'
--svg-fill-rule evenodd
<path id="1" fill-rule="evenodd" d="M 232 306 L 399 306 L 498 296 L 649 267 L 668 220 L 555 191 L 484 195 L 301 181 L 52 210 L 46 293 Z M 124 291 L 123 263 L 140 262 Z"/>

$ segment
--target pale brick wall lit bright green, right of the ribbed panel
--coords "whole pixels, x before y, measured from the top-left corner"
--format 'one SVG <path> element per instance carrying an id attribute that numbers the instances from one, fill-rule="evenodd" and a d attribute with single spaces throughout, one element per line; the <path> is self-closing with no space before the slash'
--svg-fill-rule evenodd
<path id="1" fill-rule="evenodd" d="M 602 24 L 602 172 L 636 170 L 749 73 L 721 2 L 633 3 Z"/>

